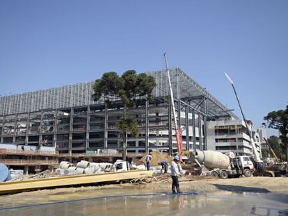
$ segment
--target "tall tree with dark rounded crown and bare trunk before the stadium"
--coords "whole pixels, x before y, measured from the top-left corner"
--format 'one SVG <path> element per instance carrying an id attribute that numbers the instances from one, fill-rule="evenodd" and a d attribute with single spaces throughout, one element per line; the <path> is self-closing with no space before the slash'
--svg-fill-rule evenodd
<path id="1" fill-rule="evenodd" d="M 128 70 L 122 76 L 118 76 L 115 72 L 104 73 L 102 78 L 97 79 L 93 85 L 94 101 L 103 97 L 106 104 L 120 99 L 124 103 L 123 117 L 115 124 L 122 131 L 123 160 L 126 158 L 127 133 L 131 133 L 134 137 L 138 136 L 137 120 L 127 116 L 127 107 L 134 107 L 139 97 L 151 99 L 155 86 L 153 76 L 144 73 L 136 74 L 135 70 Z"/>

